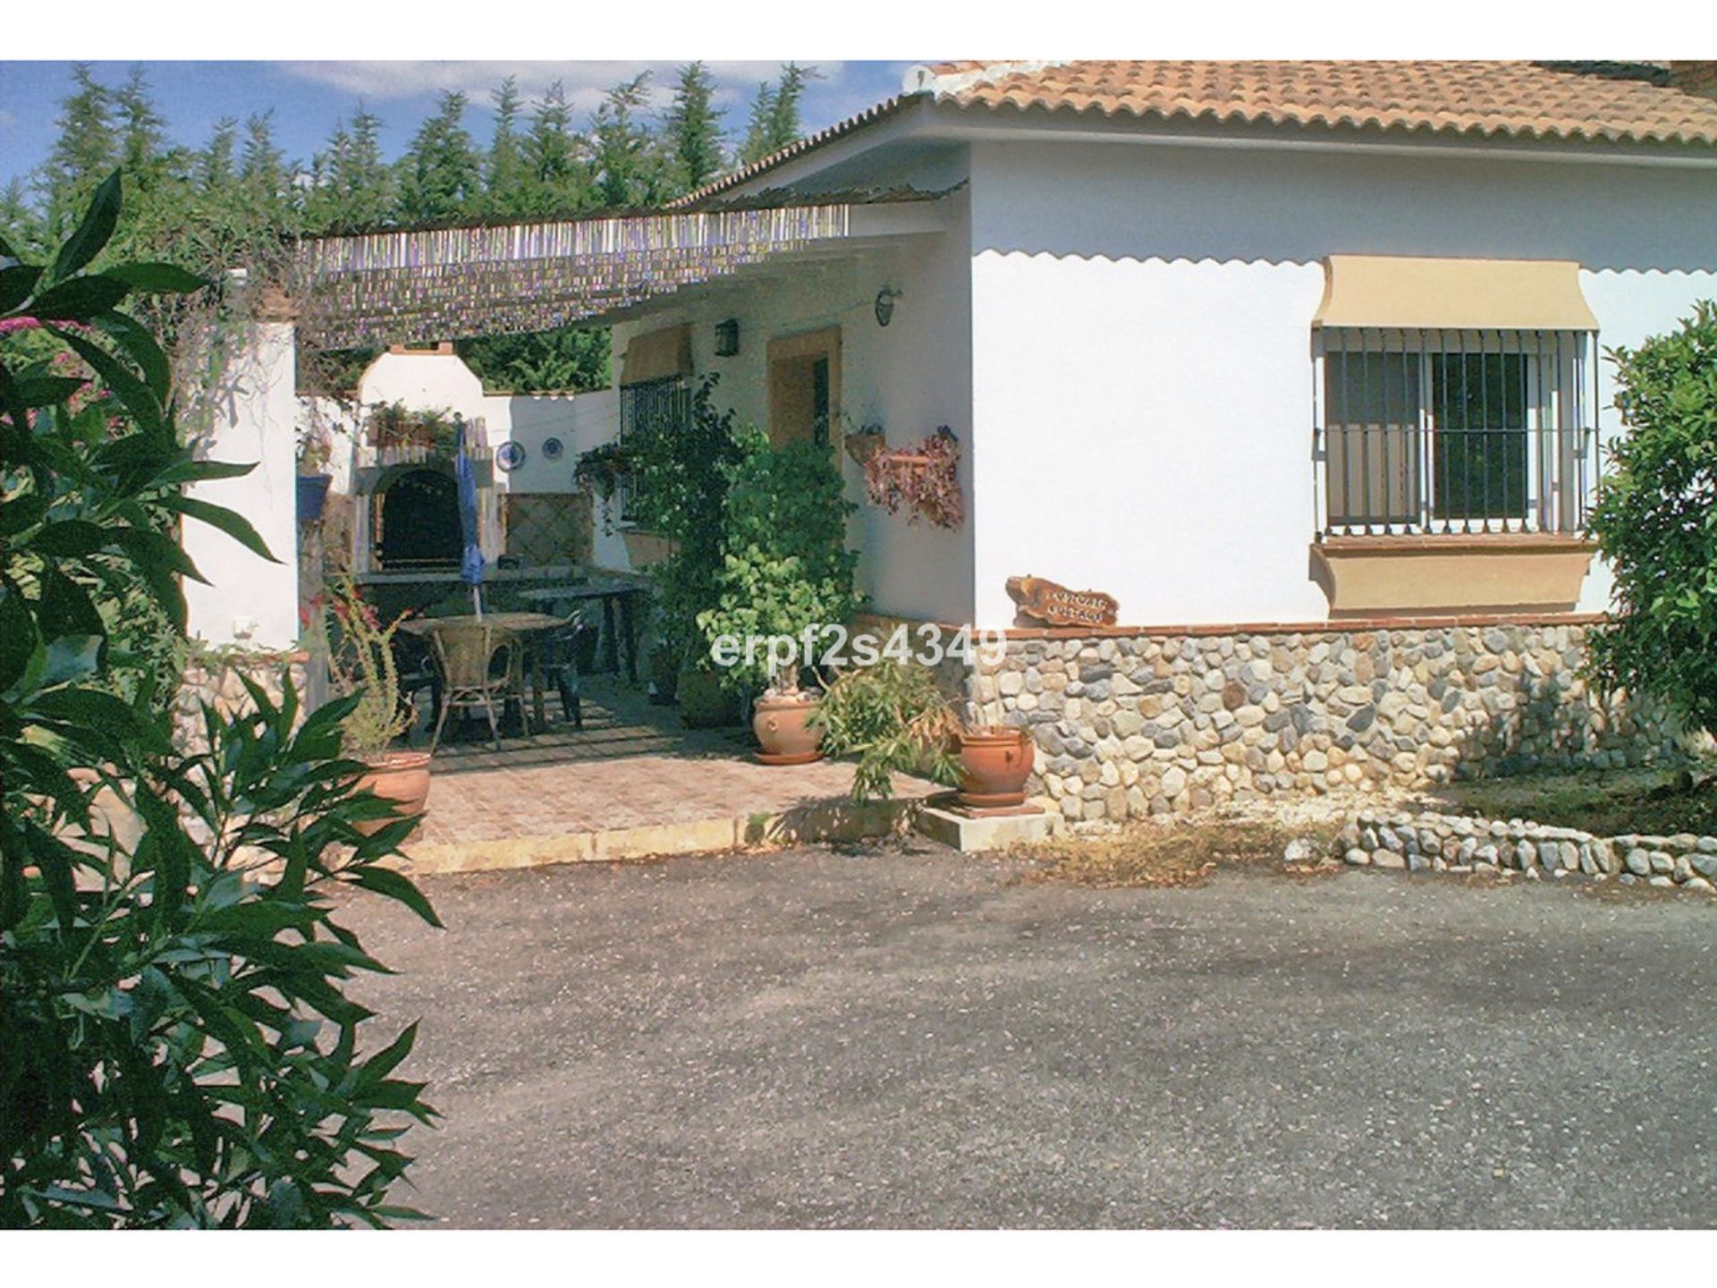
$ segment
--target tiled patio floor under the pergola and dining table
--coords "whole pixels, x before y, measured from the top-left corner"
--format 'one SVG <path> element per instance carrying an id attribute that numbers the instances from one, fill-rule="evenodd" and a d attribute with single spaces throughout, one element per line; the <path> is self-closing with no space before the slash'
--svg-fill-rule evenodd
<path id="1" fill-rule="evenodd" d="M 745 819 L 817 817 L 850 826 L 862 814 L 871 829 L 886 826 L 886 811 L 855 812 L 846 802 L 850 764 L 759 764 L 747 730 L 687 730 L 673 708 L 651 706 L 611 680 L 587 682 L 582 730 L 560 721 L 558 704 L 548 716 L 546 732 L 503 737 L 498 752 L 486 728 L 477 735 L 481 718 L 464 738 L 443 740 L 429 812 L 405 847 L 419 867 L 618 857 L 599 838 L 628 831 L 620 847 L 628 854 L 725 848 L 721 838 L 733 838 Z M 917 780 L 896 785 L 903 800 L 931 790 Z M 743 840 L 738 835 L 726 845 Z"/>

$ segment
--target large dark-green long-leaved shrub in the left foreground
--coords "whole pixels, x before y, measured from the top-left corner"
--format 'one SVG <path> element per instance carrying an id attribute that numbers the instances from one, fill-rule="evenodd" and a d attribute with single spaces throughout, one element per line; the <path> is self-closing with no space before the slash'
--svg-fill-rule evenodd
<path id="1" fill-rule="evenodd" d="M 434 922 L 381 860 L 412 819 L 352 783 L 355 697 L 300 721 L 287 687 L 203 709 L 208 750 L 163 704 L 124 701 L 110 620 L 144 594 L 184 644 L 180 517 L 268 556 L 185 484 L 249 465 L 180 443 L 168 368 L 120 306 L 199 283 L 161 264 L 82 271 L 118 216 L 115 173 L 52 264 L 0 239 L 0 1226 L 330 1226 L 386 1202 L 398 1137 L 433 1109 L 393 1078 L 416 1027 L 357 1054 L 381 970 L 328 895 L 361 886 Z M 14 335 L 93 373 L 53 374 Z M 127 826 L 134 816 L 137 826 Z M 106 823 L 103 823 L 106 819 Z M 361 821 L 391 819 L 364 836 Z M 367 1032 L 366 1032 L 367 1037 Z"/>

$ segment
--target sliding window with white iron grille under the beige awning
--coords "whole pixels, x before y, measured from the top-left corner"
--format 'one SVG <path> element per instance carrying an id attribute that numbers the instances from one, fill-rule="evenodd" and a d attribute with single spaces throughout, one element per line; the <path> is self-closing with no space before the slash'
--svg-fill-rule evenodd
<path id="1" fill-rule="evenodd" d="M 1578 532 L 1590 331 L 1322 328 L 1319 532 Z"/>

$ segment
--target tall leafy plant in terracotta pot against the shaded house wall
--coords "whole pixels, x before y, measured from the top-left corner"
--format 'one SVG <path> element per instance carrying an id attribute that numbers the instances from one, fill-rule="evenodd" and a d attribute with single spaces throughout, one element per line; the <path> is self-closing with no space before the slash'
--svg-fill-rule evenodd
<path id="1" fill-rule="evenodd" d="M 730 689 L 755 694 L 752 732 L 764 764 L 805 764 L 822 756 L 810 716 L 821 692 L 804 685 L 816 675 L 805 654 L 828 625 L 843 625 L 858 608 L 846 548 L 841 476 L 829 447 L 800 440 L 773 447 L 767 434 L 738 434 L 740 457 L 726 471 L 721 570 L 716 606 L 697 625 L 713 644 L 769 641 L 723 666 Z M 761 692 L 759 692 L 761 690 Z"/>

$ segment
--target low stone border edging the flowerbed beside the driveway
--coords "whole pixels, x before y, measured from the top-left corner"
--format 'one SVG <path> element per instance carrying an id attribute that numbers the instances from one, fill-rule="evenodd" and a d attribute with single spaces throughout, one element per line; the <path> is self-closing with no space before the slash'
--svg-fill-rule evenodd
<path id="1" fill-rule="evenodd" d="M 1362 812 L 1341 829 L 1334 857 L 1353 867 L 1435 872 L 1525 872 L 1616 878 L 1623 884 L 1717 893 L 1717 836 L 1595 836 L 1526 819 Z M 1288 855 L 1293 859 L 1295 855 Z M 1301 855 L 1303 857 L 1303 855 Z"/>

